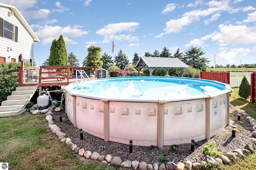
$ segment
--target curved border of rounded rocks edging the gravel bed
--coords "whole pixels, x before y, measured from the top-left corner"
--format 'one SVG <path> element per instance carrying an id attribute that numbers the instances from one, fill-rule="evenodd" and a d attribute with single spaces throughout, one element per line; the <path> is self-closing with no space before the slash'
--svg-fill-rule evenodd
<path id="1" fill-rule="evenodd" d="M 234 107 L 230 105 L 231 107 Z M 254 153 L 254 149 L 256 149 L 256 120 L 248 113 L 246 113 L 244 110 L 238 109 L 235 107 L 235 109 L 242 113 L 246 119 L 250 121 L 250 124 L 252 125 L 252 138 L 250 141 L 248 141 L 247 145 L 244 147 L 244 149 L 235 149 L 231 152 L 227 152 L 225 155 L 220 155 L 218 158 L 213 158 L 211 156 L 206 155 L 206 159 L 202 160 L 201 162 L 194 162 L 191 161 L 184 161 L 184 162 L 167 162 L 165 164 L 161 164 L 158 166 L 157 163 L 147 164 L 146 162 L 138 162 L 137 160 L 133 160 L 132 162 L 130 160 L 126 160 L 122 162 L 121 158 L 118 156 L 112 157 L 110 154 L 108 155 L 100 155 L 98 152 L 91 152 L 89 150 L 84 150 L 80 147 L 78 147 L 76 144 L 72 142 L 70 138 L 66 138 L 66 134 L 63 133 L 56 124 L 52 121 L 52 115 L 51 113 L 46 110 L 44 112 L 46 113 L 46 120 L 48 121 L 48 127 L 51 129 L 51 131 L 58 136 L 58 140 L 60 143 L 66 143 L 67 147 L 72 149 L 76 154 L 79 156 L 84 156 L 87 159 L 91 160 L 98 160 L 99 162 L 102 162 L 104 164 L 112 165 L 112 166 L 121 166 L 124 168 L 133 168 L 136 170 L 139 168 L 140 170 L 200 170 L 202 168 L 205 168 L 206 164 L 211 164 L 212 166 L 218 166 L 218 164 L 229 164 L 231 160 L 236 160 L 239 157 L 243 156 L 244 153 L 246 154 L 252 154 Z"/>

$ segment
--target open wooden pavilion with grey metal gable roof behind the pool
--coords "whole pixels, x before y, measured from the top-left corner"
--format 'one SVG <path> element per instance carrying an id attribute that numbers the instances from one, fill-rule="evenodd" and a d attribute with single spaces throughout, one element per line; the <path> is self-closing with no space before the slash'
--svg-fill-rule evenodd
<path id="1" fill-rule="evenodd" d="M 164 68 L 166 74 L 168 74 L 170 68 L 186 68 L 189 66 L 178 58 L 140 57 L 138 63 L 134 67 L 138 71 L 138 75 L 140 75 L 140 70 L 144 67 L 149 70 L 149 75 L 152 76 L 152 72 L 156 68 Z"/>

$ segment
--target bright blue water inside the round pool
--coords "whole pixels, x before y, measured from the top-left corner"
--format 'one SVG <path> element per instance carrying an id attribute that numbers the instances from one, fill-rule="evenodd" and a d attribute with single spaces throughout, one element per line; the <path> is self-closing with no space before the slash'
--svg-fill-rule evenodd
<path id="1" fill-rule="evenodd" d="M 72 91 L 95 99 L 148 101 L 206 98 L 225 89 L 223 83 L 198 78 L 134 76 L 87 80 Z"/>

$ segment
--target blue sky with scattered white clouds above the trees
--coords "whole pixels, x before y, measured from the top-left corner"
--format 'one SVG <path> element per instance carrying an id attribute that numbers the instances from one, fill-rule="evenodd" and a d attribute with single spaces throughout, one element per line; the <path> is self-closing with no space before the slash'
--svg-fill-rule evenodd
<path id="1" fill-rule="evenodd" d="M 40 66 L 60 35 L 67 53 L 80 66 L 87 48 L 102 48 L 101 55 L 122 50 L 130 63 L 134 53 L 201 47 L 214 63 L 256 63 L 255 0 L 1 0 L 15 5 L 40 42 L 34 59 Z M 214 60 L 215 59 L 215 60 Z"/>

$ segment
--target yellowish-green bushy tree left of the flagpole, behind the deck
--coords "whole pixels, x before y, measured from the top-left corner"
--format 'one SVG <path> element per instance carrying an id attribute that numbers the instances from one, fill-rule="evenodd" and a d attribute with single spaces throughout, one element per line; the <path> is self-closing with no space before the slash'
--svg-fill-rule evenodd
<path id="1" fill-rule="evenodd" d="M 97 68 L 101 68 L 103 65 L 103 62 L 100 60 L 100 52 L 102 49 L 100 47 L 96 47 L 91 45 L 88 49 L 88 55 L 87 55 L 87 61 L 86 66 L 96 66 Z"/>

